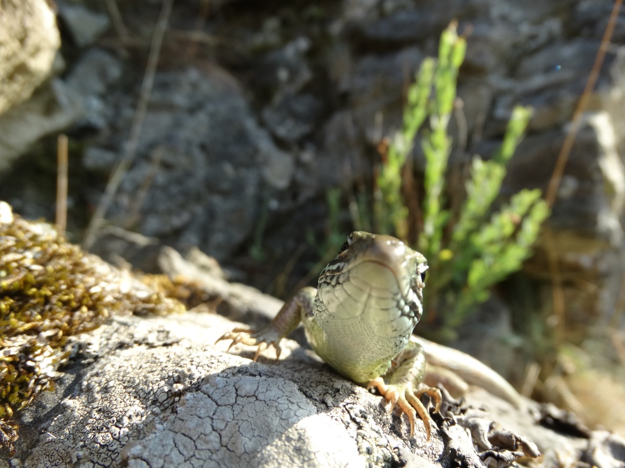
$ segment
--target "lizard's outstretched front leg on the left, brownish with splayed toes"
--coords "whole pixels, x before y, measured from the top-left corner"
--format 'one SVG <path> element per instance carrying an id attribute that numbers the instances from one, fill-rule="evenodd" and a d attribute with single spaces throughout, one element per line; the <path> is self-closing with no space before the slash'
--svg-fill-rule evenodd
<path id="1" fill-rule="evenodd" d="M 254 361 L 258 359 L 262 351 L 269 346 L 273 346 L 276 348 L 277 359 L 282 352 L 280 341 L 296 329 L 297 325 L 307 314 L 311 314 L 312 303 L 314 303 L 316 293 L 317 290 L 315 288 L 302 288 L 291 300 L 284 303 L 280 311 L 266 327 L 257 331 L 247 328 L 235 328 L 228 333 L 224 333 L 215 343 L 222 339 L 231 339 L 232 343 L 228 346 L 228 351 L 237 343 L 257 346 Z"/>

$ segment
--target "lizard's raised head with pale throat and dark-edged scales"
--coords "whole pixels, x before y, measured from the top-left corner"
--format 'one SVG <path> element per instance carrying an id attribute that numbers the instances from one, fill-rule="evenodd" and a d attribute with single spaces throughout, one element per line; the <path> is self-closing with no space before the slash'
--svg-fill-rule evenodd
<path id="1" fill-rule="evenodd" d="M 401 240 L 352 232 L 319 276 L 317 295 L 340 318 L 361 316 L 384 336 L 405 336 L 421 318 L 426 270 L 426 258 Z"/>

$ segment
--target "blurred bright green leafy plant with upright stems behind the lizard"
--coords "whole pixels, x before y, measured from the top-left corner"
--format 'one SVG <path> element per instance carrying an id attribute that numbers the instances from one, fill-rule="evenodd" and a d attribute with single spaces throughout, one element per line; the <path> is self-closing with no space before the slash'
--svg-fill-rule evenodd
<path id="1" fill-rule="evenodd" d="M 540 190 L 521 190 L 494 212 L 506 163 L 512 157 L 531 117 L 531 109 L 516 107 L 501 148 L 490 160 L 473 158 L 466 182 L 466 199 L 457 213 L 447 207 L 445 182 L 452 139 L 447 132 L 456 100 L 459 68 L 466 39 L 456 24 L 442 32 L 437 61 L 427 58 L 410 85 L 401 130 L 394 135 L 377 176 L 374 219 L 379 232 L 416 238 L 417 248 L 430 264 L 426 308 L 449 336 L 476 303 L 489 297 L 489 288 L 519 270 L 531 254 L 549 208 Z M 424 125 L 424 124 L 429 125 Z M 423 128 L 426 127 L 426 128 Z M 426 159 L 424 195 L 419 213 L 409 213 L 402 197 L 402 168 L 421 129 Z M 409 215 L 418 225 L 409 225 Z"/>

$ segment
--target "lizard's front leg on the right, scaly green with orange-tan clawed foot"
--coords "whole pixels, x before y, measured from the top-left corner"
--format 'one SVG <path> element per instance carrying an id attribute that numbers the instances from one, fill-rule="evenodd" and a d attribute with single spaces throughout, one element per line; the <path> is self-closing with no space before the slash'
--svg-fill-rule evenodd
<path id="1" fill-rule="evenodd" d="M 422 386 L 426 371 L 426 359 L 421 345 L 409 342 L 391 363 L 391 368 L 367 385 L 377 388 L 389 402 L 392 409 L 397 405 L 405 412 L 410 422 L 410 437 L 414 436 L 414 422 L 419 414 L 426 428 L 426 441 L 429 441 L 431 428 L 434 425 L 429 412 L 421 402 L 421 396 L 427 394 L 434 402 L 435 410 L 441 407 L 441 391 L 437 388 Z"/>

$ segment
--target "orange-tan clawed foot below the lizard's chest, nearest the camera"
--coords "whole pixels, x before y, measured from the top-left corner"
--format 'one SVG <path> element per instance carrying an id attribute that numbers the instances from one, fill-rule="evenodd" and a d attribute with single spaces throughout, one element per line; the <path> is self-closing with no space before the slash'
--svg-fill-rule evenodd
<path id="1" fill-rule="evenodd" d="M 419 417 L 421 417 L 421 420 L 423 421 L 423 425 L 426 427 L 426 442 L 429 441 L 434 421 L 429 415 L 429 412 L 427 412 L 426 407 L 423 406 L 420 398 L 422 395 L 427 394 L 427 396 L 434 401 L 434 411 L 439 411 L 442 399 L 441 391 L 439 389 L 424 387 L 414 392 L 412 390 L 412 386 L 387 385 L 381 377 L 373 379 L 367 386 L 367 389 L 372 387 L 377 388 L 377 391 L 379 391 L 384 398 L 391 402 L 389 413 L 393 410 L 395 405 L 399 406 L 399 409 L 406 413 L 408 421 L 410 421 L 411 438 L 414 436 L 414 421 L 416 420 L 416 415 L 419 414 Z"/>

